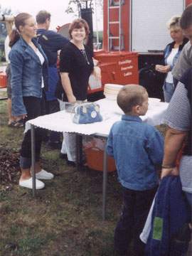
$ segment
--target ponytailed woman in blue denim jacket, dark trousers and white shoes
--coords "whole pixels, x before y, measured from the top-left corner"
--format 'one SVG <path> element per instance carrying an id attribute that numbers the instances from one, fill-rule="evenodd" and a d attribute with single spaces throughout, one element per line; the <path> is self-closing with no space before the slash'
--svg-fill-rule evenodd
<path id="1" fill-rule="evenodd" d="M 36 23 L 30 14 L 21 13 L 15 18 L 16 30 L 11 32 L 11 89 L 12 114 L 16 121 L 27 122 L 43 114 L 44 88 L 46 87 L 48 61 L 36 42 Z M 53 174 L 41 169 L 39 157 L 43 132 L 36 129 L 36 188 L 45 186 L 39 179 L 53 178 Z M 32 188 L 31 134 L 28 130 L 21 144 L 21 178 L 19 185 Z"/>

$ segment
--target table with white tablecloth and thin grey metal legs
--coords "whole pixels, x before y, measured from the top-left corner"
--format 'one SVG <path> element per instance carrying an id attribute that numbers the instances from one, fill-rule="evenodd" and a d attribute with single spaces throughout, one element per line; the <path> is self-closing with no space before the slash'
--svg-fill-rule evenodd
<path id="1" fill-rule="evenodd" d="M 35 127 L 41 127 L 54 132 L 70 132 L 77 134 L 77 163 L 80 161 L 80 136 L 96 136 L 105 138 L 105 146 L 110 128 L 114 122 L 121 119 L 122 110 L 117 106 L 116 101 L 102 99 L 98 100 L 100 112 L 103 117 L 102 122 L 92 124 L 74 124 L 73 114 L 65 112 L 65 110 L 53 114 L 46 114 L 36 119 L 31 119 L 26 123 L 26 130 L 31 129 L 31 171 L 33 178 L 33 196 L 36 193 L 36 178 L 35 178 Z M 149 110 L 141 117 L 143 122 L 147 122 L 153 126 L 164 123 L 164 114 L 168 107 L 165 102 L 149 101 Z M 103 182 L 102 182 L 102 219 L 105 220 L 106 210 L 106 191 L 107 191 L 107 153 L 104 151 L 103 160 Z"/>

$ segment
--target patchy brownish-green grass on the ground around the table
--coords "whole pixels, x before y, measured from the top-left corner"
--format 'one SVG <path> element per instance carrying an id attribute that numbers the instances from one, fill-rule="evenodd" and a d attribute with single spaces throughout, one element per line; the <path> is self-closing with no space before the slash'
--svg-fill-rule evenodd
<path id="1" fill-rule="evenodd" d="M 7 127 L 0 102 L 0 150 L 19 150 L 23 130 Z M 164 127 L 162 131 L 164 132 Z M 76 171 L 43 145 L 43 167 L 55 174 L 33 198 L 17 184 L 0 186 L 0 256 L 111 256 L 121 209 L 117 174 L 108 175 L 107 220 L 102 221 L 102 173 Z M 130 255 L 131 256 L 131 255 Z"/>

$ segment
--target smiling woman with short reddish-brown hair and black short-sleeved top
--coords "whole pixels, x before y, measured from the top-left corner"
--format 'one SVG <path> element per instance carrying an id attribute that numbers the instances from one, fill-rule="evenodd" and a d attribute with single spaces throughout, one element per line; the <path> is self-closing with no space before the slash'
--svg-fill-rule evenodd
<path id="1" fill-rule="evenodd" d="M 60 51 L 60 83 L 56 95 L 60 100 L 60 110 L 65 109 L 65 102 L 87 100 L 87 87 L 90 74 L 95 72 L 92 51 L 85 45 L 90 33 L 87 22 L 77 18 L 69 28 L 70 42 Z M 97 70 L 97 78 L 100 77 Z M 67 154 L 68 164 L 75 163 L 75 135 L 63 134 L 61 154 Z"/>

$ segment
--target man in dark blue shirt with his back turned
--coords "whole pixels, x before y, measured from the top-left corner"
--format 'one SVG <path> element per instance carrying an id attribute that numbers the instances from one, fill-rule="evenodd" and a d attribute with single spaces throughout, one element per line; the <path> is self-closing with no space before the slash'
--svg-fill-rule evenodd
<path id="1" fill-rule="evenodd" d="M 50 13 L 48 11 L 39 11 L 36 15 L 38 26 L 37 38 L 44 52 L 48 57 L 48 91 L 46 92 L 46 114 L 58 112 L 60 110 L 59 103 L 55 97 L 55 88 L 58 83 L 57 59 L 58 50 L 61 50 L 68 39 L 61 36 L 55 31 L 50 31 Z M 58 132 L 50 132 L 48 144 L 52 147 L 60 145 L 60 134 Z"/>

